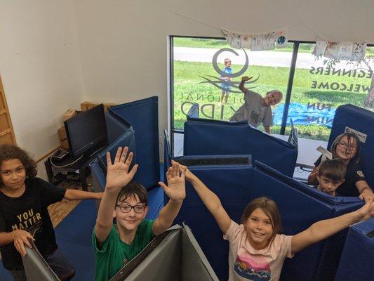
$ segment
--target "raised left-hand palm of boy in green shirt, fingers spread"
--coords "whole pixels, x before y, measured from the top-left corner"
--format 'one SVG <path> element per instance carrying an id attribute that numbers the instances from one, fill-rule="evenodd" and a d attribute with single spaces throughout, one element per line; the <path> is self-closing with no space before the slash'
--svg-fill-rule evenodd
<path id="1" fill-rule="evenodd" d="M 136 170 L 138 169 L 138 164 L 130 169 L 131 161 L 133 161 L 133 152 L 126 155 L 128 152 L 128 147 L 119 147 L 116 152 L 116 157 L 114 157 L 114 163 L 112 164 L 112 159 L 110 159 L 110 153 L 107 152 L 107 185 L 106 188 L 109 190 L 119 190 L 123 186 L 127 185 L 134 177 Z"/>

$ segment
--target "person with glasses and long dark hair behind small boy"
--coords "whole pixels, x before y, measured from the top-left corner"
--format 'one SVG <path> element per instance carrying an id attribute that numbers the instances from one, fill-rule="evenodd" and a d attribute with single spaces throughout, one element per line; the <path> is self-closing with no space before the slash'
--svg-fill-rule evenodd
<path id="1" fill-rule="evenodd" d="M 331 153 L 333 158 L 340 158 L 347 165 L 345 182 L 337 190 L 340 196 L 359 196 L 365 202 L 368 202 L 369 198 L 373 198 L 373 190 L 366 182 L 359 165 L 361 156 L 359 138 L 353 133 L 342 133 L 335 138 L 333 145 L 331 145 Z M 321 157 L 314 163 L 316 167 L 308 177 L 308 184 L 318 184 L 316 176 L 318 175 L 320 164 Z"/>

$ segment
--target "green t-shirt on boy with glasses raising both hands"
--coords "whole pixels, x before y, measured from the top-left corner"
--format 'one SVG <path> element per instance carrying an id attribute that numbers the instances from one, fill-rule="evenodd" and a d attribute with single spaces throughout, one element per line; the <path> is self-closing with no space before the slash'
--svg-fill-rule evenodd
<path id="1" fill-rule="evenodd" d="M 92 234 L 92 244 L 95 251 L 95 281 L 105 281 L 112 278 L 128 261 L 144 249 L 155 237 L 152 231 L 153 220 L 143 220 L 136 230 L 131 244 L 126 244 L 119 238 L 116 226 L 112 226 L 107 240 L 98 249 L 95 230 Z"/>

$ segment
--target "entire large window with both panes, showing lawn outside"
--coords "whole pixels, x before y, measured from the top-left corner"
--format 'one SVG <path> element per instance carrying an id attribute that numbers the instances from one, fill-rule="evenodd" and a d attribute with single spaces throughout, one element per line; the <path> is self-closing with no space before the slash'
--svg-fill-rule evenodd
<path id="1" fill-rule="evenodd" d="M 326 141 L 336 107 L 363 107 L 368 100 L 374 65 L 316 60 L 313 49 L 314 42 L 290 41 L 272 51 L 237 50 L 225 39 L 171 37 L 172 130 L 182 131 L 192 103 L 199 104 L 201 118 L 228 120 L 243 104 L 238 86 L 248 76 L 253 79 L 246 88 L 262 96 L 272 89 L 283 92 L 282 102 L 273 108 L 272 133 L 287 133 L 293 119 L 300 137 Z M 368 47 L 371 53 L 374 47 Z M 232 77 L 225 83 L 227 59 Z"/>

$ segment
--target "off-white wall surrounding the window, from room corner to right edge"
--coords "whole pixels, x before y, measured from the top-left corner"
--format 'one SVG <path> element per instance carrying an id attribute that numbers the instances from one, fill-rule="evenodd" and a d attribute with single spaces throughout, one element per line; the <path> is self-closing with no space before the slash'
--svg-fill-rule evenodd
<path id="1" fill-rule="evenodd" d="M 76 20 L 85 98 L 125 103 L 157 95 L 162 136 L 168 115 L 168 35 L 222 37 L 214 27 L 269 32 L 304 22 L 331 40 L 374 41 L 373 11 L 370 0 L 79 0 Z M 314 41 L 316 34 L 299 24 L 288 29 L 288 38 Z"/>

